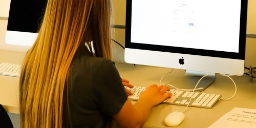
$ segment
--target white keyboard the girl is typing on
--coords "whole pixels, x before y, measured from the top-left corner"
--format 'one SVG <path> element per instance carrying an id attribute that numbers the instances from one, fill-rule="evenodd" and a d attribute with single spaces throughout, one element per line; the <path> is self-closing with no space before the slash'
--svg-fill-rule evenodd
<path id="1" fill-rule="evenodd" d="M 129 87 L 125 88 L 133 93 L 133 95 L 128 96 L 131 100 L 138 100 L 139 94 L 146 89 L 145 87 L 134 87 L 132 89 Z M 164 100 L 162 103 L 184 106 L 189 104 L 188 106 L 210 109 L 221 98 L 221 95 L 219 94 L 202 92 L 188 92 L 174 89 L 171 89 L 169 92 L 172 93 L 172 97 Z M 192 97 L 190 101 L 191 103 L 189 103 L 190 97 Z"/>

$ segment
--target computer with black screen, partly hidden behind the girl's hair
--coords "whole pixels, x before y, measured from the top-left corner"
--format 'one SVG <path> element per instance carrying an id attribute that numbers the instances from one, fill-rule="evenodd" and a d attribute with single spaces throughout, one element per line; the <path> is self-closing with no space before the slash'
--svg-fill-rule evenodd
<path id="1" fill-rule="evenodd" d="M 29 46 L 38 35 L 47 0 L 12 0 L 8 17 L 6 44 Z"/>

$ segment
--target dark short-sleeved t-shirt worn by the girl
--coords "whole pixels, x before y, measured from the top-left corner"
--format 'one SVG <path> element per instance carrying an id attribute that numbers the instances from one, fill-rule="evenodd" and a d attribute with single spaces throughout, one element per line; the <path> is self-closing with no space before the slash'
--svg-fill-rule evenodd
<path id="1" fill-rule="evenodd" d="M 127 100 L 114 62 L 106 58 L 76 56 L 67 87 L 63 127 L 109 127 Z"/>

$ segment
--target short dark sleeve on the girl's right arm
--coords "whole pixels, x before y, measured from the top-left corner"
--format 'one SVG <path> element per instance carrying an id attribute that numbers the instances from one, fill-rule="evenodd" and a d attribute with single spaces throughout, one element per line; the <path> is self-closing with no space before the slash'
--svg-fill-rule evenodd
<path id="1" fill-rule="evenodd" d="M 92 83 L 95 84 L 93 99 L 99 109 L 109 116 L 117 114 L 127 100 L 127 93 L 114 62 L 105 59 L 94 75 Z"/>

